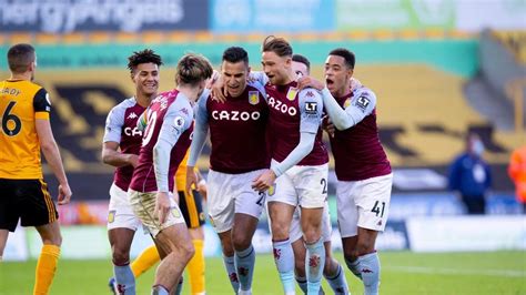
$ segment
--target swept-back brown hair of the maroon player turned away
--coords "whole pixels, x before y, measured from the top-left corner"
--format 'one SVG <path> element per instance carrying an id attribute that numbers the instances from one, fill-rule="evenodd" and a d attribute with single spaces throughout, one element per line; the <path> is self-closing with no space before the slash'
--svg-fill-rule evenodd
<path id="1" fill-rule="evenodd" d="M 184 54 L 178 62 L 175 69 L 175 81 L 178 84 L 195 85 L 212 77 L 213 69 L 210 61 L 195 53 Z"/>

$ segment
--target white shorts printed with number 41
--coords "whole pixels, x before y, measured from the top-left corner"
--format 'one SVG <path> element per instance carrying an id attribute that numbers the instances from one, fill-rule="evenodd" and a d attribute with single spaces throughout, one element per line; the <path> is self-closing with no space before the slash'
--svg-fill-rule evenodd
<path id="1" fill-rule="evenodd" d="M 357 227 L 383 232 L 390 213 L 393 173 L 363 181 L 338 181 L 337 222 L 342 237 L 355 236 Z"/>

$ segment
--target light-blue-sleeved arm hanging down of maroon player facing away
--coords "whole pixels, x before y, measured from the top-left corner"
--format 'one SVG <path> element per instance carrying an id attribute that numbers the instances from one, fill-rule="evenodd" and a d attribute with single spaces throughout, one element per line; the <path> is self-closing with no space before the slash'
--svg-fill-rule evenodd
<path id="1" fill-rule="evenodd" d="M 170 197 L 168 194 L 170 153 L 181 134 L 192 124 L 193 112 L 191 111 L 190 114 L 185 114 L 181 109 L 181 104 L 175 102 L 166 110 L 158 142 L 153 146 L 153 171 L 158 185 L 154 212 L 159 214 L 161 223 L 164 223 L 170 212 Z"/>

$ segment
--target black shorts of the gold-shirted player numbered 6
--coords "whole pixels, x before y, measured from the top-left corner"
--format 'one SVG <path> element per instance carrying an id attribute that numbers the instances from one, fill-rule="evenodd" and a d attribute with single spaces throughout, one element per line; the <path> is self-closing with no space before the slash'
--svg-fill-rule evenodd
<path id="1" fill-rule="evenodd" d="M 39 226 L 59 218 L 43 180 L 0 179 L 0 228 L 14 232 L 22 226 Z"/>

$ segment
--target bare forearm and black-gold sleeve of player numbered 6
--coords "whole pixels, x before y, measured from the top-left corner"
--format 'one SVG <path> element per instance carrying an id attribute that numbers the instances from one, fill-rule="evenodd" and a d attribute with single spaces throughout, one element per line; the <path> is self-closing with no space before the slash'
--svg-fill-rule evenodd
<path id="1" fill-rule="evenodd" d="M 34 95 L 33 109 L 36 118 L 34 128 L 37 130 L 37 135 L 39 136 L 40 148 L 42 149 L 45 161 L 48 161 L 49 167 L 59 181 L 59 204 L 68 204 L 71 199 L 71 189 L 68 184 L 68 177 L 65 176 L 64 167 L 62 165 L 59 146 L 54 141 L 53 131 L 51 130 L 51 124 L 49 122 L 51 103 L 49 94 L 43 88 Z"/>

